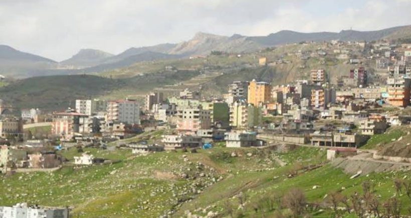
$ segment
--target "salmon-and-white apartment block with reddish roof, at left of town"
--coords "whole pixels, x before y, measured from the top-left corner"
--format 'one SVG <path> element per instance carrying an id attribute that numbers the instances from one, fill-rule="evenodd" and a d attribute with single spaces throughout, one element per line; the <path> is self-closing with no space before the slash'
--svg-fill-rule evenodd
<path id="1" fill-rule="evenodd" d="M 53 114 L 52 134 L 69 140 L 75 133 L 89 133 L 88 116 L 67 111 Z"/>

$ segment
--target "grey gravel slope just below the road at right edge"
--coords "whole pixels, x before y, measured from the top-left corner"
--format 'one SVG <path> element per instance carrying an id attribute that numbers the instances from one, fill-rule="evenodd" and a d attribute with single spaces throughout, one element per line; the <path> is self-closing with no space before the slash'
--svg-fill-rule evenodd
<path id="1" fill-rule="evenodd" d="M 405 166 L 394 163 L 380 163 L 367 160 L 353 160 L 346 158 L 336 158 L 331 162 L 331 165 L 343 169 L 349 175 L 353 175 L 358 171 L 362 171 L 361 175 L 366 175 L 371 172 L 386 172 L 392 170 L 406 169 Z"/>

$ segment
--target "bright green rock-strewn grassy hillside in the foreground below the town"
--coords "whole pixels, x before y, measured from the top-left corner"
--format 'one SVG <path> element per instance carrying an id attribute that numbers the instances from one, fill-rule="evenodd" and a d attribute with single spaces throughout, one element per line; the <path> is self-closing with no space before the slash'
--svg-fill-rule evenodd
<path id="1" fill-rule="evenodd" d="M 120 162 L 89 167 L 68 164 L 52 173 L 3 177 L 0 203 L 71 205 L 73 215 L 79 217 L 158 217 L 171 211 L 177 217 L 187 211 L 198 215 L 212 211 L 221 217 L 271 217 L 280 212 L 290 214 L 288 209 L 280 208 L 279 200 L 298 187 L 309 204 L 322 205 L 307 207 L 305 213 L 330 217 L 330 193 L 361 194 L 363 181 L 367 180 L 382 202 L 395 195 L 394 178 L 411 175 L 400 171 L 350 179 L 350 175 L 325 162 L 325 150 L 307 147 L 278 153 L 272 149 L 216 146 L 196 153 L 142 156 L 133 156 L 130 150 L 85 151 Z M 61 153 L 69 160 L 80 155 L 76 149 Z M 281 166 L 283 163 L 287 165 Z M 401 212 L 407 213 L 409 199 L 405 194 L 398 199 Z"/>

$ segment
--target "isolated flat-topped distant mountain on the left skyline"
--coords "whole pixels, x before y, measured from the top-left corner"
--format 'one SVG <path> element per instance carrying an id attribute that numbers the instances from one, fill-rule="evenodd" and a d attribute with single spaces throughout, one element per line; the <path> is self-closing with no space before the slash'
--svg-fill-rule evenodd
<path id="1" fill-rule="evenodd" d="M 72 58 L 60 62 L 63 65 L 75 66 L 78 68 L 92 67 L 102 64 L 108 58 L 113 57 L 113 54 L 95 49 L 82 49 L 79 53 L 73 55 Z"/>

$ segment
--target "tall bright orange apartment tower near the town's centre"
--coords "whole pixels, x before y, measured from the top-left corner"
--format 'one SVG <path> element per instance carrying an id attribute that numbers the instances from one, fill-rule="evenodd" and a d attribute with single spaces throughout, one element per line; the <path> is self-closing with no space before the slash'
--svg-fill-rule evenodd
<path id="1" fill-rule="evenodd" d="M 257 82 L 253 80 L 248 86 L 247 102 L 254 106 L 259 106 L 260 103 L 267 103 L 271 98 L 271 85 L 266 82 Z"/>

